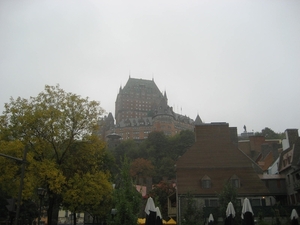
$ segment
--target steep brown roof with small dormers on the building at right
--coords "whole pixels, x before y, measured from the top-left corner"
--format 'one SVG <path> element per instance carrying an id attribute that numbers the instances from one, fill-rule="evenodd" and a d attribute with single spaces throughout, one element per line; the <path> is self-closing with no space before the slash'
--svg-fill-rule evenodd
<path id="1" fill-rule="evenodd" d="M 227 123 L 195 126 L 195 144 L 179 158 L 176 164 L 178 194 L 215 196 L 235 175 L 240 179 L 238 194 L 242 196 L 268 195 L 257 169 L 262 170 L 233 142 L 232 130 Z M 237 134 L 235 134 L 237 135 Z M 201 187 L 201 178 L 211 179 L 210 188 Z"/>

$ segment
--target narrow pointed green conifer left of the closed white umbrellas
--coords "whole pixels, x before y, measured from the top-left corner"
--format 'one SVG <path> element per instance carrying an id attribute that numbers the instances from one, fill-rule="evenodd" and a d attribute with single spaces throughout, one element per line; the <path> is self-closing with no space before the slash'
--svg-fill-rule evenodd
<path id="1" fill-rule="evenodd" d="M 122 225 L 136 224 L 141 201 L 142 195 L 136 190 L 130 177 L 129 160 L 125 158 L 115 189 L 114 203 L 117 213 L 110 223 Z"/>

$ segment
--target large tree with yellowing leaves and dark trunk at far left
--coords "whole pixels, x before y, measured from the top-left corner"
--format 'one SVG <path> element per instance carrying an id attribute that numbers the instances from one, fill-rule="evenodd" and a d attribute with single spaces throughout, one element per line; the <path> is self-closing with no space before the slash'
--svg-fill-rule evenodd
<path id="1" fill-rule="evenodd" d="M 67 93 L 59 85 L 45 86 L 37 97 L 11 98 L 10 103 L 5 104 L 0 117 L 1 146 L 19 157 L 20 149 L 28 146 L 23 198 L 35 195 L 37 187 L 47 189 L 48 224 L 57 224 L 58 208 L 74 174 L 95 175 L 103 168 L 105 144 L 93 136 L 102 113 L 98 102 Z M 13 169 L 10 174 L 18 177 L 19 170 L 15 163 L 10 163 Z M 0 180 L 10 179 L 3 178 L 3 174 Z M 107 179 L 98 182 L 107 182 Z M 4 187 L 4 190 L 15 196 L 17 183 L 10 185 L 11 189 Z"/>

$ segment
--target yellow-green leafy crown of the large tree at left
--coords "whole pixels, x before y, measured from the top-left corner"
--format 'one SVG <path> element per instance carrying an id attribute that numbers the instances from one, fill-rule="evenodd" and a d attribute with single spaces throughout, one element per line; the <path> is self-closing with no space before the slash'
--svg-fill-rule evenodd
<path id="1" fill-rule="evenodd" d="M 0 143 L 0 152 L 7 149 L 22 158 L 21 141 L 30 143 L 24 198 L 36 195 L 37 187 L 61 194 L 73 205 L 99 204 L 110 196 L 109 176 L 100 172 L 105 143 L 92 135 L 102 113 L 99 102 L 67 93 L 59 85 L 45 86 L 36 97 L 10 99 L 0 116 L 0 140 L 9 142 Z M 0 171 L 5 171 L 0 173 L 2 190 L 12 195 L 18 190 L 20 168 L 0 158 Z"/>

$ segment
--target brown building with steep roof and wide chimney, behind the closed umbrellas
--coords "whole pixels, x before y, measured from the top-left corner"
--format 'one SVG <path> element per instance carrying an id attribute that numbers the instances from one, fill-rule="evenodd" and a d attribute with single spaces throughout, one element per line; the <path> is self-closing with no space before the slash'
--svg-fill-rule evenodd
<path id="1" fill-rule="evenodd" d="M 218 207 L 218 196 L 225 183 L 237 188 L 242 205 L 248 198 L 254 206 L 275 203 L 273 194 L 259 175 L 263 170 L 238 148 L 237 129 L 227 123 L 195 126 L 195 144 L 176 163 L 177 221 L 191 193 L 199 207 Z"/>

